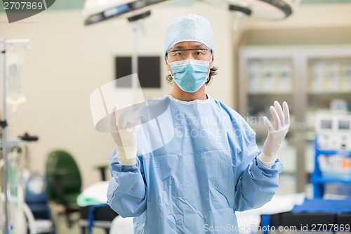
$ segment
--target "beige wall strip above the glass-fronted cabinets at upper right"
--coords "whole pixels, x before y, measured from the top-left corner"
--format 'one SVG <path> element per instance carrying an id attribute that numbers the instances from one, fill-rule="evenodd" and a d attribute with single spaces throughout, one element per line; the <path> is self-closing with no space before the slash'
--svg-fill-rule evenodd
<path id="1" fill-rule="evenodd" d="M 346 30 L 351 27 L 351 4 L 319 4 L 319 5 L 300 5 L 296 8 L 295 13 L 289 18 L 277 21 L 268 20 L 254 20 L 248 18 L 242 20 L 241 32 L 248 30 L 256 30 L 257 32 L 263 30 L 276 30 L 279 34 L 279 39 L 276 39 L 274 44 L 301 44 L 304 38 L 299 38 L 298 34 L 293 37 L 289 32 L 312 30 L 315 34 L 321 35 L 324 32 L 324 37 L 318 38 L 315 36 L 314 43 L 320 44 L 320 41 L 334 41 L 334 43 L 345 43 L 345 36 L 349 37 L 351 34 Z M 338 30 L 340 28 L 340 30 Z M 330 31 L 333 30 L 333 31 Z M 337 32 L 338 31 L 338 32 Z M 272 31 L 270 32 L 272 33 Z M 287 33 L 286 37 L 282 34 Z M 267 36 L 267 35 L 266 35 Z M 304 37 L 304 35 L 302 35 Z M 337 38 L 339 37 L 339 38 Z M 343 38 L 344 37 L 344 38 Z M 244 39 L 244 38 L 243 38 Z M 279 41 L 280 40 L 280 41 Z M 272 44 L 265 40 L 265 37 L 256 37 L 255 44 Z M 350 43 L 350 42 L 349 42 Z"/>

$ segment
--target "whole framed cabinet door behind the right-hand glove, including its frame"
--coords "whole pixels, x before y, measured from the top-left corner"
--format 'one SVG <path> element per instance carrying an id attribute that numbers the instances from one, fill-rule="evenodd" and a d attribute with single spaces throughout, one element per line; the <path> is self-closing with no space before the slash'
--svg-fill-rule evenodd
<path id="1" fill-rule="evenodd" d="M 283 173 L 293 174 L 295 192 L 304 192 L 307 180 L 305 169 L 306 107 L 305 76 L 301 74 L 304 61 L 295 47 L 243 47 L 239 51 L 238 107 L 256 131 L 257 143 L 262 148 L 267 136 L 263 117 L 272 119 L 270 105 L 274 100 L 286 101 L 291 114 L 291 127 L 279 148 Z M 313 158 L 313 157 L 312 157 Z M 310 164 L 313 164 L 310 162 Z"/>

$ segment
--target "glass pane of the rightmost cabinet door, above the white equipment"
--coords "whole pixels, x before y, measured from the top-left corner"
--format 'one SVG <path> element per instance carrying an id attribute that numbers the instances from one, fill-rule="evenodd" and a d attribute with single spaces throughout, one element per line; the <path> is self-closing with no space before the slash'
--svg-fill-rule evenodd
<path id="1" fill-rule="evenodd" d="M 314 129 L 319 112 L 350 112 L 350 94 L 351 52 L 348 57 L 307 58 L 307 130 Z"/>

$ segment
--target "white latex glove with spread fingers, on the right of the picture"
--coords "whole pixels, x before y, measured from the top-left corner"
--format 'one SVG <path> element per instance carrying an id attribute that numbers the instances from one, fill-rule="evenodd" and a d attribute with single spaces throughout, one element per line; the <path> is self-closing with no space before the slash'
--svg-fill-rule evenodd
<path id="1" fill-rule="evenodd" d="M 258 159 L 265 164 L 266 167 L 272 167 L 275 160 L 277 160 L 277 151 L 280 144 L 284 140 L 289 131 L 290 115 L 288 103 L 283 103 L 282 106 L 274 101 L 274 106 L 270 107 L 270 112 L 274 119 L 274 126 L 267 117 L 263 117 L 265 126 L 268 129 L 268 136 L 263 143 L 263 150 Z"/>

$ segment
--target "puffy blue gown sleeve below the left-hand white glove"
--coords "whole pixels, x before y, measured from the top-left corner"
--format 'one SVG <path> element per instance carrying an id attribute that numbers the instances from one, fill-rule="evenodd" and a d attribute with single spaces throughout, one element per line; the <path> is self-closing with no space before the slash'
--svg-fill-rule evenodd
<path id="1" fill-rule="evenodd" d="M 122 217 L 140 216 L 146 209 L 146 183 L 141 159 L 133 166 L 118 163 L 114 149 L 110 162 L 112 178 L 107 189 L 107 204 Z"/>

